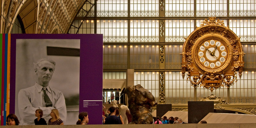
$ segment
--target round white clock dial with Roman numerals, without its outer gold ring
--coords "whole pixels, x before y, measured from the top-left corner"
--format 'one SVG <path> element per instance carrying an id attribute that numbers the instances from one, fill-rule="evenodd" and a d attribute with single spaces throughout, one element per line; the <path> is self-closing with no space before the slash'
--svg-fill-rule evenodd
<path id="1" fill-rule="evenodd" d="M 196 49 L 199 63 L 207 69 L 217 69 L 228 60 L 228 47 L 220 40 L 203 41 Z"/>

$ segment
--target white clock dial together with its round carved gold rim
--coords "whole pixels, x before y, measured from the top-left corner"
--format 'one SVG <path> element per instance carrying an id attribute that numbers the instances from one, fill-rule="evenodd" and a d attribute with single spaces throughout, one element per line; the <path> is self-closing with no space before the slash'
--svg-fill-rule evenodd
<path id="1" fill-rule="evenodd" d="M 200 71 L 217 73 L 230 65 L 232 50 L 230 42 L 224 36 L 205 34 L 194 43 L 191 57 Z"/>

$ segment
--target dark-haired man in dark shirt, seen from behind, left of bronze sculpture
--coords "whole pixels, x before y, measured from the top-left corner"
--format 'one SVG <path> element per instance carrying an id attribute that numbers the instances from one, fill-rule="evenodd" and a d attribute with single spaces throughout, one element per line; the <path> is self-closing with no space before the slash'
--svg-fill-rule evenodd
<path id="1" fill-rule="evenodd" d="M 105 119 L 105 124 L 122 124 L 120 118 L 115 115 L 116 108 L 112 106 L 109 111 L 110 115 Z"/>

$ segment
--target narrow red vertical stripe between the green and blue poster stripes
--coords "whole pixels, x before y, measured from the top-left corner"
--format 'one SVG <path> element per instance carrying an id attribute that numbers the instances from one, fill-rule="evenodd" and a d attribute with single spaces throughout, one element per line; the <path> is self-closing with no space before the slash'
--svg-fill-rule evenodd
<path id="1" fill-rule="evenodd" d="M 2 80 L 1 80 L 1 125 L 4 125 L 4 46 L 5 45 L 5 34 L 3 34 L 2 42 Z"/>

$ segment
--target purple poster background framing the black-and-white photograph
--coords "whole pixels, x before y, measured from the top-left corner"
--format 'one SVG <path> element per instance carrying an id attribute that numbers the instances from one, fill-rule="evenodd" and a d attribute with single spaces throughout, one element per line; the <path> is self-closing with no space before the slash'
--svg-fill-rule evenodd
<path id="1" fill-rule="evenodd" d="M 80 39 L 79 112 L 88 112 L 89 124 L 102 124 L 102 34 L 12 34 L 10 114 L 15 113 L 16 39 Z"/>

